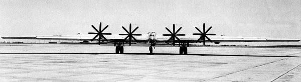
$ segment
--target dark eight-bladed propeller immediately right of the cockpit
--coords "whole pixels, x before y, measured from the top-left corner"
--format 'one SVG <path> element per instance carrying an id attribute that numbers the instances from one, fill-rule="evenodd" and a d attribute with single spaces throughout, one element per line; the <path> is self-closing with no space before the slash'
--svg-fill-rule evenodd
<path id="1" fill-rule="evenodd" d="M 177 36 L 185 36 L 185 34 L 177 34 L 177 33 L 182 29 L 182 27 L 180 27 L 180 28 L 175 32 L 175 24 L 174 24 L 174 26 L 173 26 L 173 32 L 171 32 L 171 30 L 169 30 L 167 27 L 165 27 L 165 29 L 166 29 L 168 32 L 171 33 L 171 34 L 163 34 L 163 36 L 171 36 L 171 38 L 168 39 L 168 40 L 166 41 L 166 43 L 173 39 L 173 44 L 174 44 L 174 46 L 175 46 L 175 43 L 176 43 L 176 42 L 175 42 L 175 41 L 176 41 L 175 38 L 177 38 L 177 40 L 180 41 L 180 39 L 179 39 Z"/>

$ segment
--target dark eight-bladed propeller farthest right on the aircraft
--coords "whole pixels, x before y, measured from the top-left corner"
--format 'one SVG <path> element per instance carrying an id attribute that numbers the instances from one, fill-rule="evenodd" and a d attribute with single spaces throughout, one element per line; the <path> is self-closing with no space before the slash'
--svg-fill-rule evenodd
<path id="1" fill-rule="evenodd" d="M 210 41 L 210 42 L 212 42 L 212 40 L 209 38 L 209 37 L 207 37 L 207 35 L 215 35 L 215 34 L 207 34 L 207 32 L 211 29 L 212 27 L 210 26 L 209 27 L 209 29 L 207 29 L 206 31 L 205 31 L 205 23 L 203 24 L 203 32 L 198 28 L 198 27 L 196 27 L 196 29 L 200 32 L 200 33 L 193 33 L 193 35 L 201 35 L 200 36 L 200 38 L 197 40 L 197 42 L 199 42 L 201 39 L 203 40 L 203 45 L 205 45 L 205 40 L 206 40 L 206 38 Z"/>

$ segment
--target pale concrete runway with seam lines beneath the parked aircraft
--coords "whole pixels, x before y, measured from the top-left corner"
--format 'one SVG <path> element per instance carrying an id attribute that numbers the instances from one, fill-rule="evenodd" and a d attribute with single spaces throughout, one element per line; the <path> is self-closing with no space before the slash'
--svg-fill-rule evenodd
<path id="1" fill-rule="evenodd" d="M 3 45 L 3 44 L 0 44 Z M 0 46 L 0 82 L 299 82 L 301 49 Z"/>

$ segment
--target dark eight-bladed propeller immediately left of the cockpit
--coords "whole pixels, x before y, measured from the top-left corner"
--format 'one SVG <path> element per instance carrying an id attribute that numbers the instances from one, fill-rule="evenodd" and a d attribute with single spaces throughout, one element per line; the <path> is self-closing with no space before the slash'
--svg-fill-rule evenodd
<path id="1" fill-rule="evenodd" d="M 142 34 L 133 34 L 139 27 L 137 26 L 133 31 L 131 31 L 131 23 L 129 23 L 129 31 L 127 31 L 123 26 L 122 26 L 123 30 L 127 33 L 127 34 L 119 34 L 119 35 L 127 35 L 125 38 L 124 38 L 124 41 L 128 38 L 129 39 L 129 46 L 131 45 L 131 40 L 134 39 L 136 42 L 137 39 L 133 36 L 141 36 Z"/>

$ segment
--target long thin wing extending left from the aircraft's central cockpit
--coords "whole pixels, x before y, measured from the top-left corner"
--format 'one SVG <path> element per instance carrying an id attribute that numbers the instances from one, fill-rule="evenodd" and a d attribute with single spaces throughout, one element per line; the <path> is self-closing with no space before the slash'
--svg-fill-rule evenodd
<path id="1" fill-rule="evenodd" d="M 10 37 L 1 37 L 3 39 L 36 39 L 36 40 L 73 40 L 73 41 L 91 41 L 94 36 L 10 36 Z M 108 42 L 116 42 L 116 41 L 123 41 L 126 36 L 105 36 Z M 146 38 L 138 36 L 135 37 L 138 42 L 146 42 Z M 98 41 L 96 38 L 93 40 L 95 42 Z M 104 41 L 103 38 L 100 41 Z M 129 40 L 126 39 L 125 42 Z"/>

